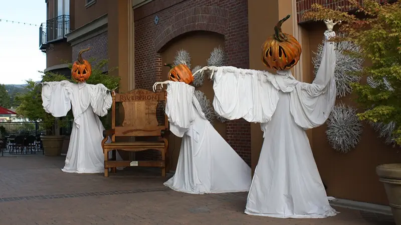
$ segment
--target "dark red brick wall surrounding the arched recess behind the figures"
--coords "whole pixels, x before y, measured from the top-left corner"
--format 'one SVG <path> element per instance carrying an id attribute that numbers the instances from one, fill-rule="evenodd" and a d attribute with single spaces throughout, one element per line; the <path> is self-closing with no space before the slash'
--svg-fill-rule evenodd
<path id="1" fill-rule="evenodd" d="M 248 0 L 153 0 L 134 10 L 134 20 L 135 88 L 151 89 L 154 82 L 161 81 L 160 52 L 168 41 L 188 31 L 225 35 L 226 63 L 249 68 Z M 227 122 L 227 141 L 250 163 L 248 122 Z"/>

